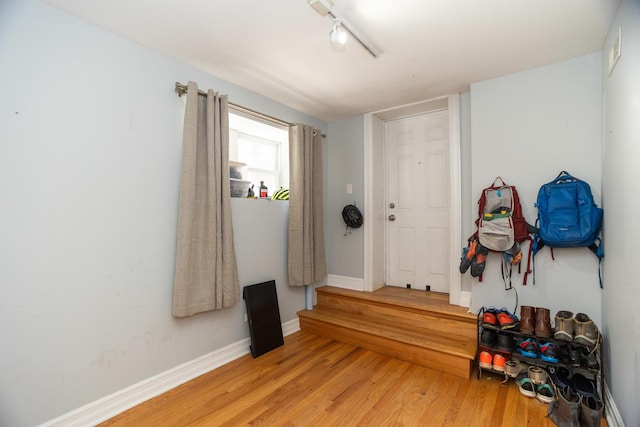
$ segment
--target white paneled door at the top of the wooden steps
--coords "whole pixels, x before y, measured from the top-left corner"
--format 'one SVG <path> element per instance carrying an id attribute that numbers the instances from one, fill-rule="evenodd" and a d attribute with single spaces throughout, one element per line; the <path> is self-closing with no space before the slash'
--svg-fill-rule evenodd
<path id="1" fill-rule="evenodd" d="M 449 292 L 448 112 L 385 123 L 387 285 Z"/>

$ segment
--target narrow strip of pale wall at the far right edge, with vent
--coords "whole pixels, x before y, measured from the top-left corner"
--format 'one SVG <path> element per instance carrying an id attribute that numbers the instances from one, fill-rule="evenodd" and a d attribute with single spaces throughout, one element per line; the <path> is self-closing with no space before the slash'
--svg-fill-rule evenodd
<path id="1" fill-rule="evenodd" d="M 611 75 L 609 50 L 622 28 L 622 56 Z M 603 45 L 602 198 L 605 376 L 626 426 L 640 426 L 640 1 L 623 0 Z"/>

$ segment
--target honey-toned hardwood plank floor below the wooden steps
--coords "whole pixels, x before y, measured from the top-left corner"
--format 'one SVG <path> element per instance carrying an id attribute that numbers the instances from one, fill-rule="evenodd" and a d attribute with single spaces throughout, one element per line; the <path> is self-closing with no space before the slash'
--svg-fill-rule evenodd
<path id="1" fill-rule="evenodd" d="M 246 355 L 104 426 L 554 426 L 503 377 L 470 380 L 311 333 Z M 603 423 L 604 425 L 604 423 Z"/>

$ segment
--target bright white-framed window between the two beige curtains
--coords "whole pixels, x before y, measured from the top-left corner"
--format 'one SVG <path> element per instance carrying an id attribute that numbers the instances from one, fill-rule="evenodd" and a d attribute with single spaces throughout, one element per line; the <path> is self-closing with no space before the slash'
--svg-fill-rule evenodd
<path id="1" fill-rule="evenodd" d="M 289 187 L 289 130 L 244 115 L 229 113 L 229 160 L 247 165 L 245 180 L 256 196 L 260 181 L 269 196 Z"/>

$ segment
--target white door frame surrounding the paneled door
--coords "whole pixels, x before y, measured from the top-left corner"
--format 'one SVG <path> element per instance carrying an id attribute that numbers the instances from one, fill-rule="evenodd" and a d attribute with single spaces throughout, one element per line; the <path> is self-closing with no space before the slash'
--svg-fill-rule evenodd
<path id="1" fill-rule="evenodd" d="M 459 254 L 454 248 L 461 244 L 461 170 L 460 170 L 460 96 L 458 94 L 428 101 L 393 107 L 364 115 L 364 283 L 365 291 L 384 286 L 386 248 L 384 232 L 386 213 L 386 168 L 384 159 L 384 122 L 417 114 L 446 109 L 449 113 L 451 235 L 449 254 L 449 302 L 469 307 L 471 296 L 462 292 L 458 271 Z M 382 172 L 382 173 L 381 173 Z M 380 250 L 382 249 L 382 250 Z M 383 266 L 382 271 L 380 266 Z"/>

